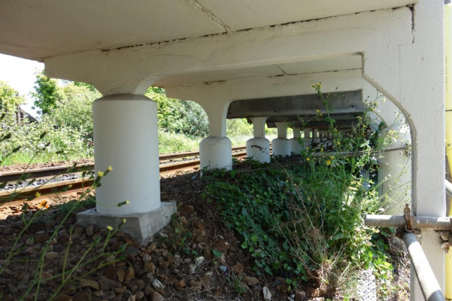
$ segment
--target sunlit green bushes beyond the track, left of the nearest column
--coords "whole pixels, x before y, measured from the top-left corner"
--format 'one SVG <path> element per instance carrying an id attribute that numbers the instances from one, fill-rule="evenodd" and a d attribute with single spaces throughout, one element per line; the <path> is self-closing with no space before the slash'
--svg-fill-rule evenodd
<path id="1" fill-rule="evenodd" d="M 5 92 L 6 91 L 6 92 Z M 7 85 L 0 86 L 1 103 L 17 103 L 17 92 Z M 27 120 L 16 122 L 17 106 L 3 106 L 1 113 L 5 114 L 0 126 L 4 133 L 11 133 L 8 142 L 0 142 L 3 157 L 11 152 L 11 147 L 20 146 L 3 164 L 26 163 L 33 161 L 55 161 L 80 159 L 93 156 L 93 121 L 91 102 L 99 97 L 98 92 L 88 87 L 66 85 L 59 90 L 59 102 L 47 108 L 40 122 Z M 17 98 L 17 97 L 16 97 Z M 41 133 L 47 133 L 40 140 Z M 45 147 L 44 152 L 33 155 L 36 147 Z M 56 154 L 57 150 L 61 150 Z"/>

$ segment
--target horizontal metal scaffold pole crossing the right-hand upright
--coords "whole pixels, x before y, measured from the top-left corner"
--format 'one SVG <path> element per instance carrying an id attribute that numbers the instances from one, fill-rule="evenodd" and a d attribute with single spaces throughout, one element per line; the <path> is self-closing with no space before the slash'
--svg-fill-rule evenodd
<path id="1" fill-rule="evenodd" d="M 405 228 L 405 224 L 401 215 L 366 214 L 364 218 L 364 225 L 371 227 Z M 412 226 L 415 229 L 451 231 L 452 223 L 449 217 L 413 216 Z"/>

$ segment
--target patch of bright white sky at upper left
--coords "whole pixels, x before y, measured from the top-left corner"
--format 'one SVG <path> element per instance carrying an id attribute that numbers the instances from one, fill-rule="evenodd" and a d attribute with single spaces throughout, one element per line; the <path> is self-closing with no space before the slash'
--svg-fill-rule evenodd
<path id="1" fill-rule="evenodd" d="M 36 113 L 31 109 L 33 99 L 30 92 L 34 91 L 35 73 L 42 69 L 44 69 L 44 63 L 0 54 L 0 81 L 6 82 L 26 99 L 23 109 L 33 116 Z"/>

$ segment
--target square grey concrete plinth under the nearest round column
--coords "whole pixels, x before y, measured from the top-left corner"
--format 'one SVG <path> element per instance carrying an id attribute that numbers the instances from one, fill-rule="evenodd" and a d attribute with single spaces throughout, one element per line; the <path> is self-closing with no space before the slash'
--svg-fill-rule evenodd
<path id="1" fill-rule="evenodd" d="M 100 214 L 96 209 L 89 209 L 77 214 L 77 223 L 84 227 L 92 223 L 96 228 L 105 229 L 107 226 L 118 228 L 119 223 L 126 219 L 121 231 L 129 233 L 137 242 L 143 242 L 167 226 L 176 211 L 176 202 L 161 202 L 160 208 L 154 211 L 121 216 Z"/>

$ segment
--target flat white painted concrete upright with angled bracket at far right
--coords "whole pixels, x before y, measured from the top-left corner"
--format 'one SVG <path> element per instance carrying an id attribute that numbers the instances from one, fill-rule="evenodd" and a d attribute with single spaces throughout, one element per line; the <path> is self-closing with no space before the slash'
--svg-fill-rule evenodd
<path id="1" fill-rule="evenodd" d="M 397 104 L 410 124 L 416 216 L 446 216 L 443 16 L 444 1 L 419 0 L 412 8 L 411 43 L 364 50 L 364 79 Z M 439 233 L 422 231 L 420 242 L 444 291 L 445 251 Z M 410 299 L 424 300 L 413 271 Z"/>

